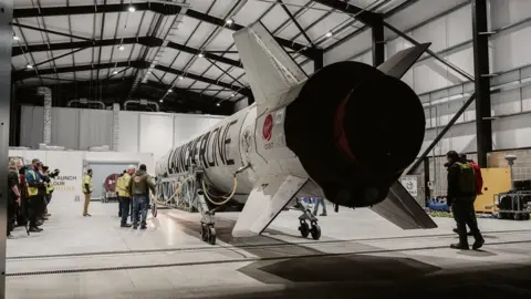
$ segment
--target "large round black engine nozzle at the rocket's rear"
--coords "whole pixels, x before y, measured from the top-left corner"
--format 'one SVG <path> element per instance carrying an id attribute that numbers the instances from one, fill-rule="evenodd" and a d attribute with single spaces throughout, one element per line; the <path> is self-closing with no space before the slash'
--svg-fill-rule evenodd
<path id="1" fill-rule="evenodd" d="M 415 161 L 425 126 L 407 84 L 357 62 L 314 73 L 285 116 L 288 146 L 329 200 L 351 207 L 385 199 Z"/>

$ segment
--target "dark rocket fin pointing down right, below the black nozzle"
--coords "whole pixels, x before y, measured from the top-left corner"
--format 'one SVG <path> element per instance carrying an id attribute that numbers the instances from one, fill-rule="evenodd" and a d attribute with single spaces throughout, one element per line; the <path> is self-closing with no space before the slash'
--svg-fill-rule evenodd
<path id="1" fill-rule="evenodd" d="M 371 209 L 402 229 L 437 227 L 435 221 L 398 181 L 395 181 L 391 186 L 387 198 Z"/>

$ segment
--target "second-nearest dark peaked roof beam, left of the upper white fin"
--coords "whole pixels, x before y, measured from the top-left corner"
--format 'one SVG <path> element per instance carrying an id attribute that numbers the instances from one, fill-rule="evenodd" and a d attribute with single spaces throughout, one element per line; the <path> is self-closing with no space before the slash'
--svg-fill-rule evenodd
<path id="1" fill-rule="evenodd" d="M 123 38 L 123 39 L 106 39 L 106 40 L 87 40 L 87 41 L 77 41 L 77 42 L 60 42 L 60 43 L 52 43 L 52 44 L 29 44 L 25 45 L 25 52 L 42 52 L 42 51 L 56 51 L 56 50 L 70 50 L 70 49 L 75 49 L 75 48 L 90 48 L 90 47 L 108 47 L 108 45 L 119 45 L 119 44 L 142 44 L 145 47 L 160 47 L 163 44 L 163 40 L 155 38 L 155 37 L 143 37 L 143 38 Z M 183 51 L 189 54 L 197 55 L 200 53 L 199 50 L 175 43 L 175 42 L 169 42 L 168 48 L 171 48 L 174 50 Z M 24 50 L 20 49 L 19 47 L 13 47 L 12 50 L 12 55 L 21 55 L 24 53 Z M 205 56 L 217 61 L 221 62 L 225 64 L 229 64 L 236 68 L 243 68 L 240 61 L 229 59 L 229 58 L 223 58 L 221 55 L 212 54 L 207 52 L 204 52 Z"/>

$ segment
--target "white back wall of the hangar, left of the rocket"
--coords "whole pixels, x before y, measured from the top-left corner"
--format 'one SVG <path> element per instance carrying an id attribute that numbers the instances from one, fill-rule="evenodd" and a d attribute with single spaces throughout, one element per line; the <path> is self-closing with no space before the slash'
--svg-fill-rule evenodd
<path id="1" fill-rule="evenodd" d="M 113 111 L 52 107 L 52 145 L 86 151 L 108 145 L 127 153 L 153 153 L 155 161 L 214 126 L 225 116 L 119 111 L 118 144 L 114 137 Z M 38 148 L 42 143 L 43 107 L 22 106 L 20 145 Z"/>

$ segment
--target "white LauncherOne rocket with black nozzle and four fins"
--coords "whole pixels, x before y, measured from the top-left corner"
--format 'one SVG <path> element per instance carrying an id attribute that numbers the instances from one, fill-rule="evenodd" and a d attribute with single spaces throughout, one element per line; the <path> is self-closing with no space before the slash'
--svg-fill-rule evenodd
<path id="1" fill-rule="evenodd" d="M 309 195 L 371 207 L 404 229 L 436 227 L 397 182 L 425 134 L 420 101 L 400 78 L 429 44 L 378 68 L 344 61 L 309 76 L 261 23 L 233 39 L 256 103 L 157 162 L 159 200 L 191 198 L 205 240 L 216 233 L 205 197 L 244 204 L 236 237 L 261 234 L 292 199 Z M 317 219 L 301 210 L 301 234 L 319 238 Z"/>

